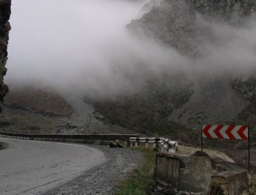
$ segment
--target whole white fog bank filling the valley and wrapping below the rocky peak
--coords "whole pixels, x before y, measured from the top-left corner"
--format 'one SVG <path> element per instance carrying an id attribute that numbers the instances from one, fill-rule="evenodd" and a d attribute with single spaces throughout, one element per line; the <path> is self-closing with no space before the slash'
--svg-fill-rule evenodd
<path id="1" fill-rule="evenodd" d="M 204 56 L 189 58 L 156 40 L 127 33 L 125 25 L 141 17 L 146 2 L 13 0 L 6 83 L 116 95 L 136 90 L 145 70 L 218 75 L 255 67 L 253 20 L 237 28 L 198 17 L 214 38 L 198 46 Z"/>

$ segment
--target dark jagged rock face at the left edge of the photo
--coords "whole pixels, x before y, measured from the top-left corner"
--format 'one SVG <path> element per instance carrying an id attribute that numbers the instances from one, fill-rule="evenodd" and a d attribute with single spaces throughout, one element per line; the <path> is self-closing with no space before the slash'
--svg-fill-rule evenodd
<path id="1" fill-rule="evenodd" d="M 8 92 L 8 86 L 4 84 L 3 77 L 6 74 L 5 68 L 7 61 L 7 45 L 9 40 L 9 31 L 11 29 L 8 20 L 11 15 L 11 0 L 0 0 L 0 102 L 3 103 L 4 95 Z M 1 113 L 0 103 L 0 113 Z"/>

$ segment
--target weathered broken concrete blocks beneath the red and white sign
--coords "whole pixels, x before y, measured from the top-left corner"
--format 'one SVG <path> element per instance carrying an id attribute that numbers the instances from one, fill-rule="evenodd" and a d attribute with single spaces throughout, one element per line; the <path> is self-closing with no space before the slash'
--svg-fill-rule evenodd
<path id="1" fill-rule="evenodd" d="M 194 155 L 157 153 L 155 178 L 184 194 L 248 195 L 248 171 L 236 164 Z"/>

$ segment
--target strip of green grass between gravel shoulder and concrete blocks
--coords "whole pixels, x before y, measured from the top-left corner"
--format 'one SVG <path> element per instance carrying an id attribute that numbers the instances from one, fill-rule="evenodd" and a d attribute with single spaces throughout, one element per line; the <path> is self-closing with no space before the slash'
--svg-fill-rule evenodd
<path id="1" fill-rule="evenodd" d="M 153 182 L 156 153 L 150 150 L 138 149 L 143 152 L 143 166 L 136 171 L 136 176 L 122 182 L 115 195 L 146 195 Z"/>

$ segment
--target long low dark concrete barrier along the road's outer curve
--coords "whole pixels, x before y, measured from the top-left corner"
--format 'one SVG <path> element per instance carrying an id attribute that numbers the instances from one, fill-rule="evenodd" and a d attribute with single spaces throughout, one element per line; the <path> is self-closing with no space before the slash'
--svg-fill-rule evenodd
<path id="1" fill-rule="evenodd" d="M 130 144 L 130 137 L 140 137 L 139 134 L 88 134 L 88 135 L 58 135 L 58 134 L 14 134 L 9 132 L 0 132 L 0 136 L 16 139 L 30 139 L 36 141 L 56 141 L 64 143 L 86 143 L 86 144 L 103 144 L 108 145 L 109 141 L 127 142 Z"/>

